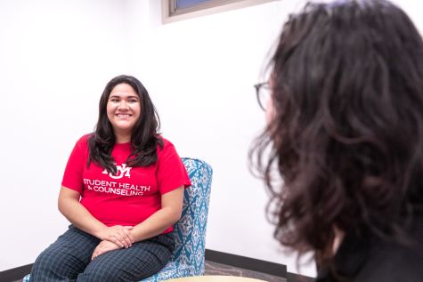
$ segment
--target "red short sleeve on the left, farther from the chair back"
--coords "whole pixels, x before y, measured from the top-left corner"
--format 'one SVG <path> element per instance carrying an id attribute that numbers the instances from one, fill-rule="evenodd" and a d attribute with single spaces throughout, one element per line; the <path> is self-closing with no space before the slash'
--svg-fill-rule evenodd
<path id="1" fill-rule="evenodd" d="M 62 186 L 76 190 L 79 193 L 84 188 L 82 173 L 84 172 L 87 149 L 87 136 L 85 135 L 77 141 L 77 144 L 72 149 L 61 181 Z"/>

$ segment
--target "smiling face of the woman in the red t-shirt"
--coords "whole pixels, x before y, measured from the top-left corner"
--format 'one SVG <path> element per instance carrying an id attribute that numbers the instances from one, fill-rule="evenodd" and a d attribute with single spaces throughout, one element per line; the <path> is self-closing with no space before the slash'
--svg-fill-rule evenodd
<path id="1" fill-rule="evenodd" d="M 107 117 L 117 137 L 130 135 L 141 114 L 141 102 L 131 85 L 116 85 L 107 101 Z"/>

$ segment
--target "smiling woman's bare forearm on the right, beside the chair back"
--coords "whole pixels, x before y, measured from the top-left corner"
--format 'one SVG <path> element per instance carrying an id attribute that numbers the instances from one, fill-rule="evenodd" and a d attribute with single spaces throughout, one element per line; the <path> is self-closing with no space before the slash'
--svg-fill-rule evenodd
<path id="1" fill-rule="evenodd" d="M 161 209 L 130 230 L 135 241 L 161 234 L 175 224 L 183 211 L 183 186 L 161 196 Z"/>

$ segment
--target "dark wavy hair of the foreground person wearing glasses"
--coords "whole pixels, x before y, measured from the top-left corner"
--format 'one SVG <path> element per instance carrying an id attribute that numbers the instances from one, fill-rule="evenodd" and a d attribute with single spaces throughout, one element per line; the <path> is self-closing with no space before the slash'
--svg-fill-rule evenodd
<path id="1" fill-rule="evenodd" d="M 383 0 L 306 4 L 270 69 L 273 121 L 250 157 L 275 237 L 299 254 L 330 253 L 334 227 L 404 243 L 423 203 L 423 42 L 409 17 Z"/>

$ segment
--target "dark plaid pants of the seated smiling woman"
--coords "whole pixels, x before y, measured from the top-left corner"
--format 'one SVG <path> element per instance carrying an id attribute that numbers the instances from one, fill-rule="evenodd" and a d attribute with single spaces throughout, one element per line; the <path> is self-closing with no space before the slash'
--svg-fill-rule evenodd
<path id="1" fill-rule="evenodd" d="M 174 250 L 173 233 L 159 235 L 129 248 L 107 252 L 91 261 L 99 238 L 70 225 L 38 257 L 31 282 L 138 281 L 161 270 Z"/>

